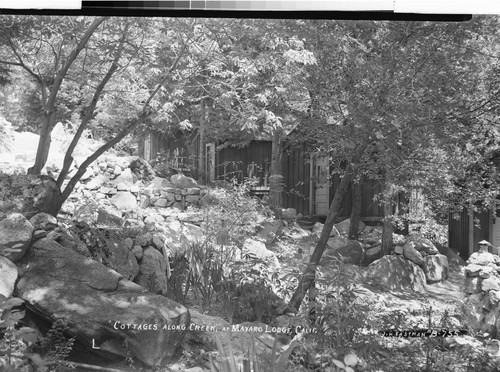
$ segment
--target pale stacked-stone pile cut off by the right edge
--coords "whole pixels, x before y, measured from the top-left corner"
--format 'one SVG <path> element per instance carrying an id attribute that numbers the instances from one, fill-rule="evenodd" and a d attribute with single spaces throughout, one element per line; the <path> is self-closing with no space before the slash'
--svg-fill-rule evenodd
<path id="1" fill-rule="evenodd" d="M 477 331 L 498 338 L 500 333 L 500 257 L 475 252 L 465 267 L 466 306 L 470 325 Z"/>

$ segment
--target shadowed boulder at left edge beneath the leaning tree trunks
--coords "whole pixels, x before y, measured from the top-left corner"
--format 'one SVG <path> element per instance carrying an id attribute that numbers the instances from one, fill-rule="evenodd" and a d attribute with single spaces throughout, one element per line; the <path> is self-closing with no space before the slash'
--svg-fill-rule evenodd
<path id="1" fill-rule="evenodd" d="M 55 215 L 60 197 L 61 190 L 52 177 L 0 174 L 0 219 L 15 212 L 27 219 L 40 212 Z"/>

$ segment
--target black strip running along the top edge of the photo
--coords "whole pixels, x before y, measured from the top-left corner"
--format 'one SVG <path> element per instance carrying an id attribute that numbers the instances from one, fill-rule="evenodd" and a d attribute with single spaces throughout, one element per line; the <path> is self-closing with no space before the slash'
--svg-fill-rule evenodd
<path id="1" fill-rule="evenodd" d="M 306 1 L 306 0 L 304 0 Z M 300 18 L 338 20 L 380 20 L 380 21 L 435 21 L 464 22 L 472 19 L 471 14 L 414 14 L 391 11 L 245 11 L 224 9 L 203 9 L 205 1 L 82 1 L 81 10 L 69 9 L 0 9 L 0 14 L 38 15 L 96 15 L 127 17 L 218 17 L 218 18 Z"/>

